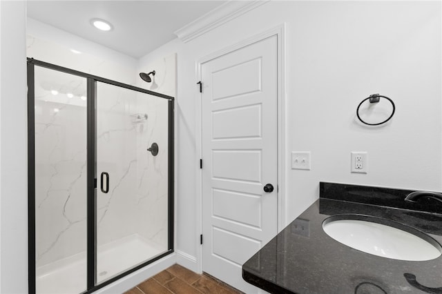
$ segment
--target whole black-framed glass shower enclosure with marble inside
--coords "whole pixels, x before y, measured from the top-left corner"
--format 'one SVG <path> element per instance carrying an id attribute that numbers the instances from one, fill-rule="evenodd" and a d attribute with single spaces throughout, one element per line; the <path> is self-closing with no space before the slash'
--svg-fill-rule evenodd
<path id="1" fill-rule="evenodd" d="M 173 252 L 173 97 L 28 59 L 30 293 Z"/>

